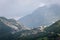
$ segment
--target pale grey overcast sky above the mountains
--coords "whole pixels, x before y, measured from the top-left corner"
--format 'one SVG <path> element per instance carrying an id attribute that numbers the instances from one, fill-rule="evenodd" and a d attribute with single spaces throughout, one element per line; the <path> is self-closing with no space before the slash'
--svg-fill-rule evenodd
<path id="1" fill-rule="evenodd" d="M 60 0 L 0 0 L 0 16 L 18 19 L 38 7 L 54 3 L 60 4 Z"/>

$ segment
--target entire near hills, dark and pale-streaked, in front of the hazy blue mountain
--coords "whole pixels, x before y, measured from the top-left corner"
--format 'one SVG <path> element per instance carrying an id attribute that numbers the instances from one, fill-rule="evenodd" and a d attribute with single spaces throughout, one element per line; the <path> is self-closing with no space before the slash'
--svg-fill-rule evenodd
<path id="1" fill-rule="evenodd" d="M 55 40 L 59 37 L 60 20 L 48 27 L 29 29 L 14 19 L 0 17 L 0 40 Z"/>

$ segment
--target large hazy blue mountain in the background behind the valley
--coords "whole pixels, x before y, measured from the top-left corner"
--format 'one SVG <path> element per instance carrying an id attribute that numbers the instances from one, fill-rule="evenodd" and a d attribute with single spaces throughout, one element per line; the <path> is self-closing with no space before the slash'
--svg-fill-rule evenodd
<path id="1" fill-rule="evenodd" d="M 60 5 L 52 4 L 49 6 L 39 7 L 32 14 L 22 17 L 18 21 L 28 27 L 48 26 L 60 18 Z"/>

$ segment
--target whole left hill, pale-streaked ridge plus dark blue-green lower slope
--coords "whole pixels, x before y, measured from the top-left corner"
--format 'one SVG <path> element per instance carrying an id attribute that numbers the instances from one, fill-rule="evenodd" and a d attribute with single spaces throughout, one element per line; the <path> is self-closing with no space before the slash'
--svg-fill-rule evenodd
<path id="1" fill-rule="evenodd" d="M 23 30 L 30 30 L 30 28 L 14 19 L 0 17 L 0 40 L 10 40 L 15 33 Z"/>

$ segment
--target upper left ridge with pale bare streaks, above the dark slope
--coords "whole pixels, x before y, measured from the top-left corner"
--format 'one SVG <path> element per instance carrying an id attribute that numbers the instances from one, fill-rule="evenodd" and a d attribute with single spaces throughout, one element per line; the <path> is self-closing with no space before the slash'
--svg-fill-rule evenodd
<path id="1" fill-rule="evenodd" d="M 19 23 L 18 21 L 14 19 L 6 19 L 5 17 L 0 17 L 0 19 L 5 25 L 11 27 L 15 31 L 21 31 L 21 30 L 28 29 L 28 27 L 24 26 L 23 24 Z"/>

